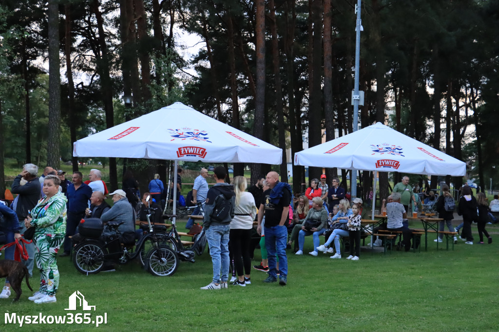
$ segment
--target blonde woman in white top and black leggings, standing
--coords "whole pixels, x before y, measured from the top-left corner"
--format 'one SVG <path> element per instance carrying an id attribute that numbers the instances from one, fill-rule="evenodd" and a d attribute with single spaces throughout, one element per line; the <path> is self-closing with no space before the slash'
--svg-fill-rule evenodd
<path id="1" fill-rule="evenodd" d="M 246 284 L 251 284 L 250 242 L 253 220 L 256 216 L 256 205 L 253 195 L 245 191 L 248 184 L 244 176 L 235 176 L 233 184 L 236 192 L 236 206 L 234 219 L 231 221 L 229 239 L 238 280 L 232 285 L 246 286 Z"/>

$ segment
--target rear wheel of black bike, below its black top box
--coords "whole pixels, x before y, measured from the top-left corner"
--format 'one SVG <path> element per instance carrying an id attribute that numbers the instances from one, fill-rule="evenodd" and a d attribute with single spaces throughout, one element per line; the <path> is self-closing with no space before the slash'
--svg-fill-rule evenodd
<path id="1" fill-rule="evenodd" d="M 104 266 L 106 249 L 98 241 L 83 242 L 76 246 L 73 254 L 73 264 L 82 274 L 96 274 Z"/>

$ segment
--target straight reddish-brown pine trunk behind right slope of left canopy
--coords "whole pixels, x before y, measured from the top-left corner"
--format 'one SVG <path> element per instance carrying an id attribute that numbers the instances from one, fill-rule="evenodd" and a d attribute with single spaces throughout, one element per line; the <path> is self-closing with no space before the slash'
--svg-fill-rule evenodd
<path id="1" fill-rule="evenodd" d="M 254 136 L 263 139 L 265 117 L 265 0 L 256 0 L 256 97 L 254 110 Z M 261 173 L 261 164 L 251 166 L 251 183 Z"/>

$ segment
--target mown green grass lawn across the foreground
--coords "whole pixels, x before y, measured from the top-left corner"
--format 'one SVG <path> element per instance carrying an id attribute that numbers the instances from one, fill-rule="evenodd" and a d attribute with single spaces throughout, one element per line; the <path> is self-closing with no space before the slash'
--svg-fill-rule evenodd
<path id="1" fill-rule="evenodd" d="M 179 222 L 179 230 L 183 226 Z M 202 291 L 212 278 L 207 251 L 196 263 L 181 263 L 175 275 L 164 278 L 153 277 L 136 262 L 113 273 L 84 276 L 67 257 L 59 258 L 57 303 L 33 304 L 24 284 L 18 303 L 0 300 L 0 305 L 5 313 L 17 315 L 84 313 L 64 311 L 68 297 L 78 290 L 96 306 L 92 319 L 107 313 L 102 331 L 499 331 L 499 227 L 488 229 L 493 244 L 459 241 L 454 251 L 445 246 L 437 251 L 430 235 L 427 252 L 424 247 L 421 253 L 394 251 L 386 256 L 361 252 L 357 262 L 288 252 L 285 287 L 263 284 L 266 274 L 252 270 L 252 284 L 245 288 Z M 478 240 L 476 226 L 473 232 Z M 304 249 L 312 250 L 311 237 Z M 253 264 L 259 257 L 256 250 Z M 36 268 L 33 273 L 30 281 L 36 290 Z M 2 331 L 13 329 L 5 325 Z M 90 326 L 22 329 L 87 331 Z"/>

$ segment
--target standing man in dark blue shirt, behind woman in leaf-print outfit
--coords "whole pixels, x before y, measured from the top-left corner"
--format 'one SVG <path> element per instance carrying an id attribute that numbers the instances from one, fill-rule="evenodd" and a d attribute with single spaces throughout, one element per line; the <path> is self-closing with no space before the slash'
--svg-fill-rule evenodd
<path id="1" fill-rule="evenodd" d="M 69 256 L 72 241 L 69 238 L 76 233 L 81 218 L 85 217 L 85 209 L 88 207 L 88 200 L 92 196 L 92 189 L 83 183 L 83 174 L 79 171 L 73 173 L 72 182 L 67 186 L 67 220 L 66 237 L 64 238 L 64 252 L 60 257 Z"/>

